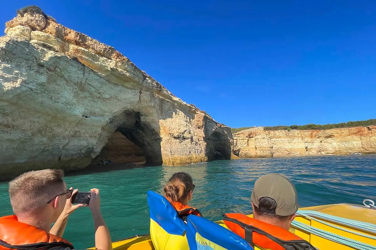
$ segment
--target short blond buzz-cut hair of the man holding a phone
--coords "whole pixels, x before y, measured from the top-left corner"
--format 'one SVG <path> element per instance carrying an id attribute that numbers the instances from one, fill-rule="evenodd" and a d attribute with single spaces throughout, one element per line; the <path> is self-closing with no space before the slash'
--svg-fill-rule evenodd
<path id="1" fill-rule="evenodd" d="M 9 182 L 9 196 L 16 216 L 41 211 L 54 196 L 64 193 L 60 169 L 29 171 Z"/>

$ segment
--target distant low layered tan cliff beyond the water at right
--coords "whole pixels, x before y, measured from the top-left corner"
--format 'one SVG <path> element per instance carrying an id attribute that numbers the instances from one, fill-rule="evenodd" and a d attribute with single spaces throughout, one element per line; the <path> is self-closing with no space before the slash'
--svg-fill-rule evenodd
<path id="1" fill-rule="evenodd" d="M 239 157 L 376 153 L 376 126 L 328 130 L 247 129 L 233 135 Z"/>

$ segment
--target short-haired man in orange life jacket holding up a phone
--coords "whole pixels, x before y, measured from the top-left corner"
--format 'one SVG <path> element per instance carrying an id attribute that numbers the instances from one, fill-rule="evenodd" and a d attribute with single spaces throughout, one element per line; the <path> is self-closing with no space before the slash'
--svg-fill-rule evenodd
<path id="1" fill-rule="evenodd" d="M 67 189 L 63 177 L 61 170 L 45 169 L 26 172 L 9 182 L 15 215 L 0 218 L 0 250 L 73 249 L 73 245 L 61 237 L 69 214 L 84 205 L 71 204 L 72 194 L 77 189 Z M 111 237 L 100 212 L 99 190 L 90 191 L 96 249 L 112 250 Z"/>

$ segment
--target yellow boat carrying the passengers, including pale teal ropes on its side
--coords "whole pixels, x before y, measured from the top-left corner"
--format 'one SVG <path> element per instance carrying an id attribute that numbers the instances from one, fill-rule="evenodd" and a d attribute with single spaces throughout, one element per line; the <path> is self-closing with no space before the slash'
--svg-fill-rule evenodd
<path id="1" fill-rule="evenodd" d="M 353 204 L 300 208 L 290 232 L 308 241 L 319 250 L 376 249 L 375 208 Z M 323 215 L 326 216 L 323 217 Z M 341 220 L 338 220 L 338 217 L 341 217 Z M 351 224 L 354 222 L 352 220 L 363 223 L 368 228 Z M 222 220 L 216 223 L 226 228 Z M 354 246 L 352 241 L 359 244 Z M 112 243 L 112 247 L 114 250 L 154 250 L 150 235 L 134 236 L 117 241 Z M 258 246 L 255 246 L 255 249 L 264 250 Z"/>

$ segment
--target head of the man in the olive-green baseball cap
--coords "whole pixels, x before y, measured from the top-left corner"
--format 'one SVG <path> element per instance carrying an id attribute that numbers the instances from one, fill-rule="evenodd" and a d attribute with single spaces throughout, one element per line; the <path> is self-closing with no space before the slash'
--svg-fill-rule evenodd
<path id="1" fill-rule="evenodd" d="M 253 218 L 288 230 L 298 211 L 298 194 L 286 177 L 268 174 L 255 182 L 251 196 Z"/>

